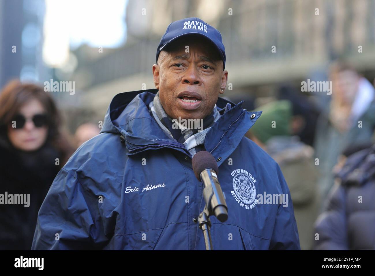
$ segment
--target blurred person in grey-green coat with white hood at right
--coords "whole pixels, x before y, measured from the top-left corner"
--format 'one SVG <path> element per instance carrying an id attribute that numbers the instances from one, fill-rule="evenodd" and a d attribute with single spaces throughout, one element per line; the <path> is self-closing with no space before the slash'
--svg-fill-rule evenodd
<path id="1" fill-rule="evenodd" d="M 375 127 L 374 87 L 350 65 L 336 62 L 330 70 L 332 101 L 321 113 L 315 137 L 315 157 L 322 202 L 333 186 L 332 169 L 348 145 L 371 142 Z M 321 205 L 323 211 L 323 205 Z"/>

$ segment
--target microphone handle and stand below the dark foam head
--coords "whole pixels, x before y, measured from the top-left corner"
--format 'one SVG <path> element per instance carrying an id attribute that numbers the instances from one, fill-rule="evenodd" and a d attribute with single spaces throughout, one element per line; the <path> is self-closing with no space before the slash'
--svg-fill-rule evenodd
<path id="1" fill-rule="evenodd" d="M 216 173 L 212 169 L 205 169 L 200 175 L 202 183 L 205 186 L 203 196 L 206 202 L 204 210 L 199 214 L 199 228 L 203 231 L 206 250 L 213 250 L 211 239 L 211 221 L 210 216 L 214 215 L 221 222 L 228 219 L 228 208 L 226 207 L 223 192 L 221 190 Z"/>

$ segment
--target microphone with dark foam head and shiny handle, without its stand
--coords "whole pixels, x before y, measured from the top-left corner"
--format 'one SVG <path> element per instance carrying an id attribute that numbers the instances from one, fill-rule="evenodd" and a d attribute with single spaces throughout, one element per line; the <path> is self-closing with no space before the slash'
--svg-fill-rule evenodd
<path id="1" fill-rule="evenodd" d="M 228 207 L 221 190 L 217 174 L 219 168 L 215 158 L 208 151 L 198 151 L 192 159 L 195 177 L 203 183 L 203 196 L 210 214 L 220 222 L 228 219 Z"/>

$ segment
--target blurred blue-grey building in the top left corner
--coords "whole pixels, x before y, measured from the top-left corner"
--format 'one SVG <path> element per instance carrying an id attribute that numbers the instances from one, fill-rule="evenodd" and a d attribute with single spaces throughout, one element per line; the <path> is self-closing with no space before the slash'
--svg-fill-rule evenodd
<path id="1" fill-rule="evenodd" d="M 40 81 L 48 69 L 42 62 L 43 0 L 0 0 L 0 87 L 12 78 Z"/>

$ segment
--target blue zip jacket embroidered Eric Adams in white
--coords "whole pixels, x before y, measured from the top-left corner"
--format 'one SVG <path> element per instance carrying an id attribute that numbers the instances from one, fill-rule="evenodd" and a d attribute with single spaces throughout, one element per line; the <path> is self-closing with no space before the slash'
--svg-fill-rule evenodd
<path id="1" fill-rule="evenodd" d="M 166 137 L 148 111 L 156 92 L 113 98 L 101 133 L 81 145 L 54 179 L 31 249 L 205 249 L 195 222 L 205 205 L 202 183 L 194 176 L 189 152 Z M 220 113 L 227 103 L 219 98 Z M 218 160 L 229 216 L 224 223 L 210 217 L 213 249 L 299 250 L 281 170 L 244 137 L 261 112 L 230 104 L 204 143 Z M 257 204 L 255 195 L 263 193 L 288 194 L 288 207 Z"/>

